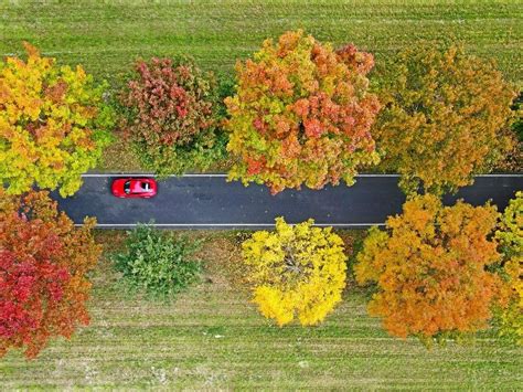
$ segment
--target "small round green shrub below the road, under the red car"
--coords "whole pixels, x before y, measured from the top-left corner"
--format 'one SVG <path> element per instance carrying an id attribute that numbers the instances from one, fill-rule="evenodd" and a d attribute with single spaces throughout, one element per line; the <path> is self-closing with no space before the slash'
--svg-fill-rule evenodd
<path id="1" fill-rule="evenodd" d="M 142 224 L 129 232 L 126 252 L 111 258 L 131 288 L 169 297 L 199 279 L 202 266 L 193 256 L 199 247 L 198 241 Z"/>

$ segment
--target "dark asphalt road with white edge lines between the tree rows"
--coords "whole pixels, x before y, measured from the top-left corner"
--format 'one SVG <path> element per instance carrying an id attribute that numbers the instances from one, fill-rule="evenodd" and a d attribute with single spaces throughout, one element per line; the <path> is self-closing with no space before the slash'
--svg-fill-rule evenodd
<path id="1" fill-rule="evenodd" d="M 74 197 L 52 195 L 75 223 L 89 215 L 97 218 L 99 227 L 113 229 L 151 220 L 172 229 L 259 229 L 273 226 L 276 216 L 289 223 L 313 218 L 318 225 L 357 229 L 383 224 L 387 215 L 402 211 L 405 201 L 396 176 L 362 174 L 353 187 L 342 183 L 270 195 L 262 186 L 226 182 L 224 174 L 189 174 L 159 182 L 158 195 L 148 200 L 113 197 L 110 183 L 117 177 L 85 174 Z M 444 201 L 462 198 L 478 205 L 491 199 L 502 210 L 517 190 L 523 190 L 523 174 L 484 176 Z"/>

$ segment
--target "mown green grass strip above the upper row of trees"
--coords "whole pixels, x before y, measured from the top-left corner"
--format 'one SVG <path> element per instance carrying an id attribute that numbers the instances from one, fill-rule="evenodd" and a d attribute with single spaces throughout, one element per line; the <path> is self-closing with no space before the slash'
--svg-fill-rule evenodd
<path id="1" fill-rule="evenodd" d="M 188 54 L 206 70 L 231 74 L 236 59 L 266 38 L 303 28 L 321 41 L 354 42 L 384 60 L 419 39 L 462 40 L 522 78 L 521 1 L 20 1 L 0 4 L 0 55 L 26 40 L 62 63 L 115 80 L 137 57 Z"/>

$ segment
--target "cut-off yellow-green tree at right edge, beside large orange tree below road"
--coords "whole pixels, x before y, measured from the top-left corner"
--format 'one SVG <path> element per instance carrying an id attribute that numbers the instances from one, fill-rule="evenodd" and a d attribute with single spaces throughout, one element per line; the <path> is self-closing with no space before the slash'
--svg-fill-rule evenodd
<path id="1" fill-rule="evenodd" d="M 495 237 L 503 255 L 502 276 L 509 283 L 509 306 L 501 312 L 501 335 L 523 345 L 523 192 L 503 212 Z"/>

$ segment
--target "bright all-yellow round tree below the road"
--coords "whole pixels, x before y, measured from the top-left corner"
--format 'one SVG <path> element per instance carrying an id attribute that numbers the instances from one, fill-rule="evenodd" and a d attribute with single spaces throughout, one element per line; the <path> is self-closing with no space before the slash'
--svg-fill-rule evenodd
<path id="1" fill-rule="evenodd" d="M 258 231 L 242 245 L 253 301 L 279 326 L 295 317 L 302 326 L 321 322 L 341 300 L 345 287 L 343 241 L 313 221 Z"/>

